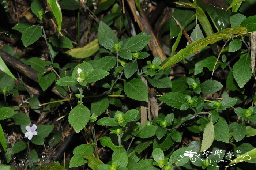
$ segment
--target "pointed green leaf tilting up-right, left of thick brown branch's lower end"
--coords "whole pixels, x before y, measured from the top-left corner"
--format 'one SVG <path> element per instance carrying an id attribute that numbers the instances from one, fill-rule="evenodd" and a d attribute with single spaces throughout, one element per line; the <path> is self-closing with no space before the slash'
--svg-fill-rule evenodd
<path id="1" fill-rule="evenodd" d="M 134 37 L 128 39 L 124 45 L 124 49 L 131 52 L 138 52 L 148 44 L 151 38 L 151 35 L 135 35 Z"/>

